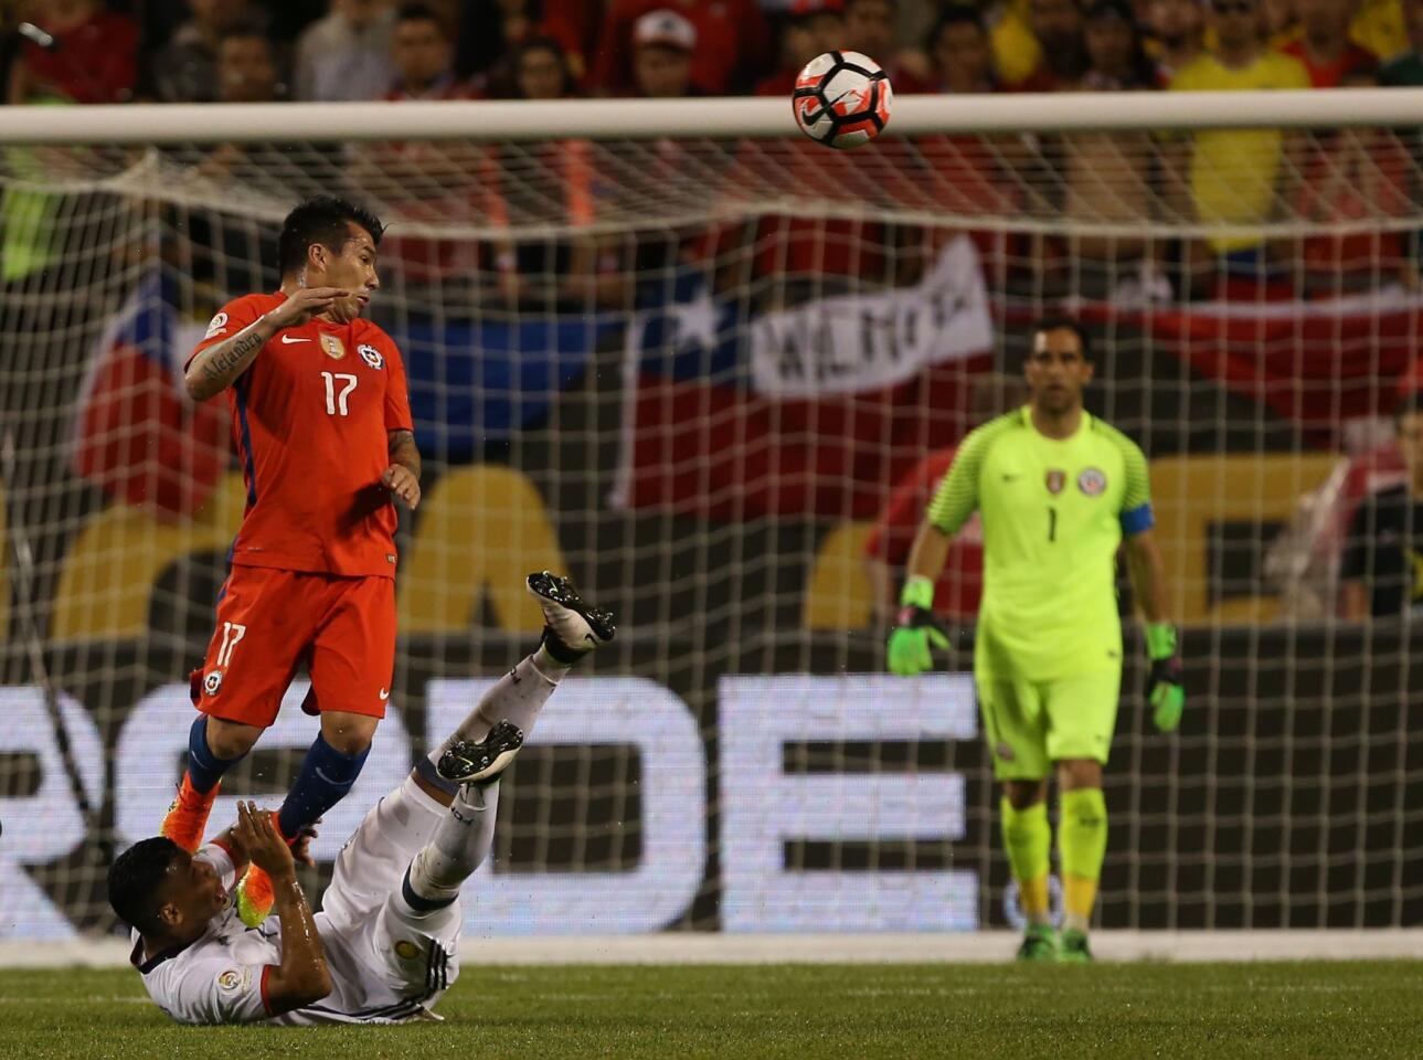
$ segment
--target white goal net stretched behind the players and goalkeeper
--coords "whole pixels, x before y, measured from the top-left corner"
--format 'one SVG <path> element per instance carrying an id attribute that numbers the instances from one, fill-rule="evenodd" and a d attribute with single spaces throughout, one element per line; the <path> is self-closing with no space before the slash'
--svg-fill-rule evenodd
<path id="1" fill-rule="evenodd" d="M 313 886 L 534 643 L 548 568 L 619 637 L 509 775 L 471 929 L 1015 923 L 972 525 L 939 672 L 887 677 L 882 645 L 948 451 L 1072 313 L 1089 408 L 1151 461 L 1187 686 L 1155 734 L 1128 632 L 1099 922 L 1419 922 L 1423 531 L 1353 561 L 1362 598 L 1340 571 L 1406 481 L 1423 97 L 1342 95 L 902 100 L 852 154 L 780 102 L 0 115 L 0 938 L 111 932 L 108 854 L 172 795 L 245 498 L 181 364 L 276 287 L 313 194 L 388 225 L 370 312 L 425 464 L 388 716 Z M 303 690 L 215 825 L 292 781 Z"/>

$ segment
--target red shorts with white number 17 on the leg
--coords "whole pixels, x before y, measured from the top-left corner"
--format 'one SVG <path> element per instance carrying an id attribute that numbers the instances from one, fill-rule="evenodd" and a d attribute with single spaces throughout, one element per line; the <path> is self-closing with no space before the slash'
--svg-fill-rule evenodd
<path id="1" fill-rule="evenodd" d="M 396 581 L 233 565 L 202 670 L 192 674 L 194 704 L 266 728 L 302 663 L 322 711 L 384 717 L 396 670 Z"/>

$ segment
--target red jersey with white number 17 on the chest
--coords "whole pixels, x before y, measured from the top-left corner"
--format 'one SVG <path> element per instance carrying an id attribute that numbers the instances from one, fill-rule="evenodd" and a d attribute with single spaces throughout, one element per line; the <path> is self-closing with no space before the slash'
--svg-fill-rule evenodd
<path id="1" fill-rule="evenodd" d="M 285 300 L 229 302 L 194 356 Z M 394 578 L 396 509 L 380 477 L 390 467 L 388 433 L 413 430 L 413 420 L 391 337 L 359 317 L 287 327 L 228 387 L 228 403 L 248 487 L 232 562 Z"/>

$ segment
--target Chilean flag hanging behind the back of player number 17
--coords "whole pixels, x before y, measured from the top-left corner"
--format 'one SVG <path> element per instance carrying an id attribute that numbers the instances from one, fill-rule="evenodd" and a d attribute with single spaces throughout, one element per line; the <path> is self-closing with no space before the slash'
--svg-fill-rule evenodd
<path id="1" fill-rule="evenodd" d="M 176 282 L 155 270 L 94 346 L 70 462 L 111 499 L 191 515 L 226 471 L 226 403 L 195 404 L 182 383 L 182 363 L 205 326 L 179 313 Z"/>

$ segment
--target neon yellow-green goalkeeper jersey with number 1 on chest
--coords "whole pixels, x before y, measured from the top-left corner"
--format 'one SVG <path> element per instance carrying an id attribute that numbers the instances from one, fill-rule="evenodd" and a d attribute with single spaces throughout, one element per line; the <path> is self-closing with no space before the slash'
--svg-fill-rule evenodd
<path id="1" fill-rule="evenodd" d="M 1040 434 L 1026 406 L 1000 415 L 963 440 L 928 518 L 953 535 L 975 509 L 978 674 L 1037 682 L 1120 667 L 1117 548 L 1153 525 L 1136 442 L 1087 413 L 1063 440 Z"/>

